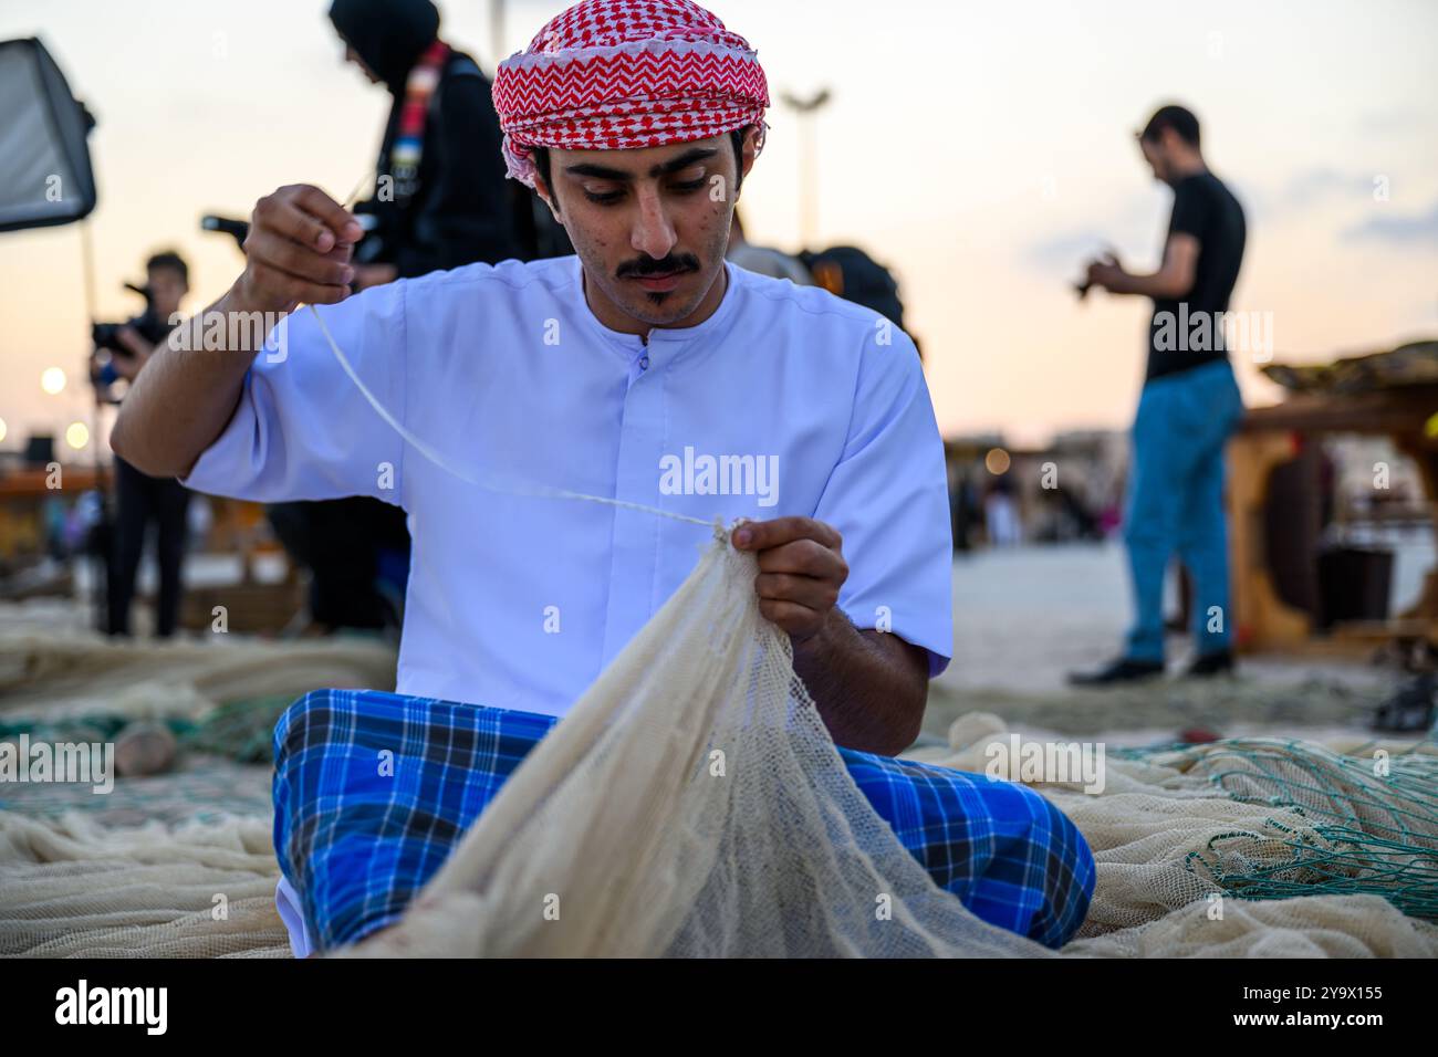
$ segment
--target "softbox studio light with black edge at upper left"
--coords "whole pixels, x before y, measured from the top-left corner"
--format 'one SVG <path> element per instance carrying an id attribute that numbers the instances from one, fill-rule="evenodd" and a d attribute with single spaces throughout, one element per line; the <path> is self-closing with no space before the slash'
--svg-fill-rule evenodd
<path id="1" fill-rule="evenodd" d="M 93 125 L 45 45 L 0 40 L 0 232 L 68 224 L 95 209 Z"/>

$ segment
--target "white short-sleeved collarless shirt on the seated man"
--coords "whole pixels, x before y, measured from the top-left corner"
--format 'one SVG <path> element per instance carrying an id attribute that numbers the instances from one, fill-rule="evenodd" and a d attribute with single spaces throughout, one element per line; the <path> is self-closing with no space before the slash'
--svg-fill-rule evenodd
<path id="1" fill-rule="evenodd" d="M 828 522 L 850 567 L 840 607 L 926 649 L 938 673 L 952 541 L 913 342 L 820 288 L 725 267 L 713 315 L 647 344 L 595 318 L 575 256 L 436 272 L 319 312 L 380 403 L 472 476 L 707 522 Z M 638 511 L 464 483 L 375 413 L 308 309 L 283 338 L 256 357 L 183 483 L 400 505 L 413 536 L 400 693 L 562 715 L 712 539 Z"/>

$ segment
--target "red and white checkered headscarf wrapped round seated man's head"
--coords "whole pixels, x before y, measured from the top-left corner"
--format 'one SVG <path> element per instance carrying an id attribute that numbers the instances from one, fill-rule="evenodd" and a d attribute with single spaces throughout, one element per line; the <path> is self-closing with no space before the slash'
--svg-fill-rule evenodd
<path id="1" fill-rule="evenodd" d="M 582 0 L 499 63 L 509 175 L 535 186 L 531 147 L 633 150 L 758 125 L 769 86 L 749 42 L 690 0 Z"/>

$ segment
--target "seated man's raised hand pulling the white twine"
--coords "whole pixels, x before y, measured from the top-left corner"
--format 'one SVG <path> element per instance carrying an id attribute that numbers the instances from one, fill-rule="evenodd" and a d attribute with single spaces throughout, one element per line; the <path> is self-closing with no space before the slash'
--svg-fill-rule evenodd
<path id="1" fill-rule="evenodd" d="M 255 206 L 234 293 L 246 308 L 282 312 L 344 301 L 354 280 L 349 255 L 362 233 L 318 187 L 280 187 Z"/>

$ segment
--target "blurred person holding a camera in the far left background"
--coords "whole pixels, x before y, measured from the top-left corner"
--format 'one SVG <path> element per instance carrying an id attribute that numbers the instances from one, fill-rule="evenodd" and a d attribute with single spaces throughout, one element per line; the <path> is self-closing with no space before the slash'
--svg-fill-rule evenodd
<path id="1" fill-rule="evenodd" d="M 145 311 L 125 324 L 98 324 L 95 352 L 91 355 L 91 381 L 96 398 L 118 404 L 119 381 L 132 383 L 150 360 L 151 351 L 173 329 L 180 302 L 190 292 L 190 267 L 174 252 L 157 253 L 145 262 Z M 180 616 L 181 565 L 184 561 L 186 516 L 190 492 L 174 477 L 150 477 L 115 456 L 115 519 L 108 561 L 108 624 L 112 636 L 129 634 L 129 607 L 135 597 L 135 577 L 144 551 L 145 532 L 155 526 L 155 558 L 160 567 L 160 594 L 155 603 L 155 637 L 174 634 Z"/>

